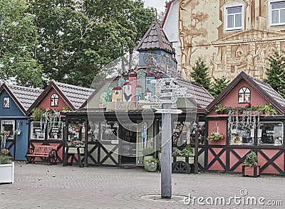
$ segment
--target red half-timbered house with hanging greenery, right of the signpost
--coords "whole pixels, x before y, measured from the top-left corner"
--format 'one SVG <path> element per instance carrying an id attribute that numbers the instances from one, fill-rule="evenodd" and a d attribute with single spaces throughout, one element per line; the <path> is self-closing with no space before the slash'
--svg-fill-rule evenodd
<path id="1" fill-rule="evenodd" d="M 220 104 L 228 111 L 216 112 Z M 206 170 L 241 173 L 247 153 L 255 151 L 261 173 L 285 174 L 285 99 L 273 88 L 242 72 L 207 111 L 207 136 L 222 133 L 224 139 L 208 141 Z"/>

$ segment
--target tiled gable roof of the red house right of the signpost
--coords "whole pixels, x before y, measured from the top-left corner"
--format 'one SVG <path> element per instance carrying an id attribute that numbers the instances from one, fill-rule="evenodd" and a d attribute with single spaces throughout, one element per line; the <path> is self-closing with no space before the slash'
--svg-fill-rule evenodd
<path id="1" fill-rule="evenodd" d="M 234 86 L 244 79 L 247 83 L 249 83 L 252 88 L 254 88 L 258 93 L 260 93 L 261 96 L 263 96 L 266 101 L 272 104 L 274 108 L 276 108 L 277 111 L 280 113 L 285 113 L 285 98 L 279 95 L 271 86 L 269 86 L 267 83 L 264 83 L 263 81 L 259 81 L 257 78 L 253 78 L 251 76 L 248 76 L 247 73 L 239 73 L 239 75 L 234 78 L 232 83 L 229 83 L 229 85 L 224 88 L 224 91 L 219 93 L 219 96 L 212 101 L 212 103 L 209 104 L 207 107 L 207 111 L 210 112 L 214 108 L 214 106 L 217 105 L 224 97 L 227 96 L 227 94 L 234 88 Z"/>

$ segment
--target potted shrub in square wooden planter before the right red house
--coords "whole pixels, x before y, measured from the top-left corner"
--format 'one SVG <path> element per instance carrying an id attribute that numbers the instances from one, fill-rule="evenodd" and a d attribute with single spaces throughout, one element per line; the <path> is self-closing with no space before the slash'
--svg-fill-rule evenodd
<path id="1" fill-rule="evenodd" d="M 242 165 L 242 176 L 260 176 L 260 165 L 257 164 L 257 153 L 251 151 Z"/>

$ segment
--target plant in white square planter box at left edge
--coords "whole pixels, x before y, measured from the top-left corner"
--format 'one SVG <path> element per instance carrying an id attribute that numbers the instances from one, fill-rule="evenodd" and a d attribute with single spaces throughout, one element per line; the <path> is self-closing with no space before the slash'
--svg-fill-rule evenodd
<path id="1" fill-rule="evenodd" d="M 1 150 L 0 173 L 0 183 L 14 183 L 14 162 L 7 149 Z"/>

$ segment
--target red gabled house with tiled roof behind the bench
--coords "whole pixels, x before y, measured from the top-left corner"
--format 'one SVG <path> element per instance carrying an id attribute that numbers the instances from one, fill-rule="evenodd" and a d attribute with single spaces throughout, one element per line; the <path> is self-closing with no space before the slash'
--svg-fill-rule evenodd
<path id="1" fill-rule="evenodd" d="M 93 93 L 93 89 L 73 86 L 66 83 L 52 81 L 44 91 L 38 96 L 28 108 L 30 120 L 29 129 L 29 147 L 35 145 L 57 146 L 58 162 L 63 160 L 63 127 L 64 118 L 61 111 L 75 111 L 80 108 L 88 96 Z M 36 110 L 36 111 L 35 111 Z M 36 113 L 40 116 L 37 118 Z M 78 128 L 73 128 L 78 133 Z M 36 158 L 36 161 L 42 161 L 43 158 Z"/>

